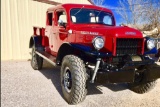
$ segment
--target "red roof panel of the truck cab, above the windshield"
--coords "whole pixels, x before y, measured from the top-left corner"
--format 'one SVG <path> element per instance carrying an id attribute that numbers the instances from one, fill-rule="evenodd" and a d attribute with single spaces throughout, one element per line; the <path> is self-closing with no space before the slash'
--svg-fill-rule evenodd
<path id="1" fill-rule="evenodd" d="M 84 8 L 88 8 L 88 9 L 96 9 L 96 10 L 102 10 L 103 11 L 107 11 L 109 13 L 112 13 L 112 11 L 110 9 L 104 8 L 104 7 L 99 7 L 99 6 L 95 6 L 95 5 L 89 5 L 89 4 L 60 4 L 57 6 L 53 6 L 51 8 L 48 8 L 47 11 L 54 11 L 56 9 L 60 9 L 60 8 L 64 8 L 65 10 L 70 11 L 72 8 L 82 8 L 84 6 Z"/>

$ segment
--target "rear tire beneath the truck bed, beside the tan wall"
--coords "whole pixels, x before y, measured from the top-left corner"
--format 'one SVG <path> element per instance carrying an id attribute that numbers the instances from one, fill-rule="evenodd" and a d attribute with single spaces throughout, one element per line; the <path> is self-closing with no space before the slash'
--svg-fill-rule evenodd
<path id="1" fill-rule="evenodd" d="M 32 59 L 31 59 L 31 66 L 34 70 L 40 70 L 42 69 L 42 66 L 43 66 L 43 58 L 40 57 L 39 55 L 37 55 L 35 53 L 35 51 L 39 49 L 39 50 L 43 50 L 42 47 L 38 47 L 36 48 L 35 46 L 32 47 Z"/>

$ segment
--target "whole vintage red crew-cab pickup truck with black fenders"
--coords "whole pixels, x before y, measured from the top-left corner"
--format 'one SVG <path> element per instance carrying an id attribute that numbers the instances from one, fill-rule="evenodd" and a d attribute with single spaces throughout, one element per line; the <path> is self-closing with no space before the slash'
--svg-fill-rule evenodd
<path id="1" fill-rule="evenodd" d="M 62 4 L 46 12 L 46 27 L 33 27 L 31 66 L 43 59 L 61 66 L 61 86 L 69 104 L 82 102 L 90 83 L 127 83 L 145 93 L 160 77 L 160 67 L 148 57 L 155 41 L 127 26 L 116 26 L 111 10 L 94 5 Z M 154 68 L 153 68 L 154 67 Z"/>

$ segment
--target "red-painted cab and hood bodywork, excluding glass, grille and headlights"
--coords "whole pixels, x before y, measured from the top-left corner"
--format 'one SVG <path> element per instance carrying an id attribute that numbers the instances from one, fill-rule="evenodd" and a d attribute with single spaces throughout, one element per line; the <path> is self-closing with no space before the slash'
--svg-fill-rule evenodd
<path id="1" fill-rule="evenodd" d="M 71 22 L 70 10 L 72 8 L 84 8 L 87 9 L 96 9 L 102 10 L 102 7 L 94 5 L 84 5 L 84 4 L 62 4 L 49 8 L 47 12 L 53 13 L 52 26 L 49 25 L 48 15 L 46 13 L 46 28 L 40 30 L 43 35 L 42 45 L 46 46 L 48 51 L 54 56 L 57 55 L 57 52 L 60 46 L 64 42 L 69 43 L 78 43 L 87 46 L 92 46 L 92 40 L 96 36 L 102 36 L 105 40 L 105 46 L 101 49 L 101 52 L 112 52 L 113 55 L 116 55 L 116 39 L 117 38 L 141 38 L 142 42 L 139 45 L 142 45 L 143 49 L 139 53 L 144 53 L 144 40 L 140 31 L 129 28 L 129 27 L 117 27 L 115 25 L 115 18 L 111 10 L 104 8 L 103 11 L 110 13 L 113 16 L 113 26 L 106 26 L 102 24 L 74 24 Z M 67 15 L 67 26 L 66 28 L 58 26 L 58 17 L 56 11 L 64 10 Z M 72 34 L 68 33 L 68 30 L 72 30 Z M 83 32 L 97 32 L 98 35 L 93 34 L 82 34 Z M 126 34 L 126 32 L 135 32 L 135 35 Z M 34 27 L 34 35 L 36 35 L 36 28 Z M 48 47 L 49 46 L 49 47 Z M 92 46 L 93 47 L 93 46 Z"/>

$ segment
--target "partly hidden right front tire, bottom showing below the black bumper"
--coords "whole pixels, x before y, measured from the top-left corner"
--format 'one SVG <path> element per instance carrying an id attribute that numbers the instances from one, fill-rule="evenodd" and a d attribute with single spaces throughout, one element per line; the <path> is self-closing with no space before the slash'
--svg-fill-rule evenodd
<path id="1" fill-rule="evenodd" d="M 129 88 L 130 90 L 136 93 L 143 94 L 150 91 L 152 88 L 154 88 L 155 84 L 156 84 L 156 81 L 146 82 L 146 83 L 132 83 L 132 84 L 129 84 Z"/>

